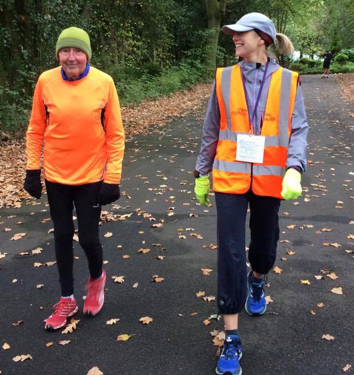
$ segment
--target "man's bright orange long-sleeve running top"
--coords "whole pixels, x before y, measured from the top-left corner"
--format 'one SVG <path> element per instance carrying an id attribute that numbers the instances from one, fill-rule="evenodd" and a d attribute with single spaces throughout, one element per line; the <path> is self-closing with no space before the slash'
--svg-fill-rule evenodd
<path id="1" fill-rule="evenodd" d="M 36 84 L 27 130 L 27 169 L 40 168 L 51 182 L 118 184 L 124 129 L 113 79 L 90 67 L 86 77 L 64 81 L 61 67 L 42 73 Z"/>

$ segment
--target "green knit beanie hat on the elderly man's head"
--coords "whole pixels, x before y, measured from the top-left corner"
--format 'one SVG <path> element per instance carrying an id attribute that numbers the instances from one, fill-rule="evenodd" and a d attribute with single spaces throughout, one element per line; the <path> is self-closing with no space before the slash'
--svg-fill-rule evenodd
<path id="1" fill-rule="evenodd" d="M 78 27 L 69 27 L 63 30 L 59 35 L 58 42 L 55 47 L 57 56 L 60 49 L 64 47 L 79 48 L 86 53 L 87 60 L 91 59 L 92 51 L 90 37 L 85 30 L 79 29 Z"/>

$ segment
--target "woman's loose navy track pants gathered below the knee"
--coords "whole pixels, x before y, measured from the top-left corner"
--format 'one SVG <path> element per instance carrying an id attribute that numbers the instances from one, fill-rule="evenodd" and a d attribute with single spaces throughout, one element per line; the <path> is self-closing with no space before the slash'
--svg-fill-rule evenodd
<path id="1" fill-rule="evenodd" d="M 252 270 L 266 274 L 274 265 L 279 239 L 280 199 L 254 194 L 215 193 L 217 211 L 217 307 L 222 314 L 236 314 L 247 297 L 246 213 L 250 205 Z"/>

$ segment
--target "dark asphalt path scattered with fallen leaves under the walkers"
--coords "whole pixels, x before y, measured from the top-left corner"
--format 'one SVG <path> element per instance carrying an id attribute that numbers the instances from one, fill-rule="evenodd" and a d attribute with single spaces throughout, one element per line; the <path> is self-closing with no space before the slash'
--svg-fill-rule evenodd
<path id="1" fill-rule="evenodd" d="M 309 167 L 303 196 L 280 207 L 275 266 L 282 271 L 269 273 L 266 288 L 273 302 L 263 316 L 240 313 L 245 375 L 354 374 L 352 105 L 340 96 L 333 76 L 301 81 L 310 125 Z M 203 247 L 216 244 L 215 200 L 211 196 L 213 206 L 205 208 L 194 198 L 201 126 L 200 114 L 192 113 L 127 142 L 124 195 L 119 207 L 104 207 L 113 220 L 100 227 L 107 283 L 104 307 L 93 318 L 82 314 L 88 269 L 74 242 L 79 323 L 73 333 L 44 330 L 43 320 L 60 294 L 56 265 L 34 267 L 55 260 L 46 195 L 23 201 L 19 209 L 0 210 L 0 251 L 7 253 L 0 259 L 0 346 L 10 345 L 0 348 L 1 375 L 86 375 L 95 366 L 104 375 L 214 374 L 217 347 L 210 332 L 222 331 L 223 324 L 213 318 L 203 323 L 217 313 L 216 303 L 196 296 L 216 295 L 217 250 Z M 112 236 L 104 237 L 107 232 Z M 10 241 L 17 233 L 26 235 Z M 19 256 L 37 248 L 41 253 Z M 213 271 L 203 275 L 201 269 Z M 164 281 L 152 281 L 154 275 Z M 112 276 L 124 276 L 124 282 L 115 283 Z M 139 322 L 145 316 L 153 321 Z M 120 320 L 107 325 L 112 318 Z M 117 341 L 120 334 L 132 336 Z M 324 334 L 334 339 L 323 339 Z M 59 345 L 61 340 L 71 341 Z M 48 342 L 53 345 L 46 347 Z M 13 361 L 21 354 L 33 359 Z M 344 372 L 346 365 L 352 368 Z"/>

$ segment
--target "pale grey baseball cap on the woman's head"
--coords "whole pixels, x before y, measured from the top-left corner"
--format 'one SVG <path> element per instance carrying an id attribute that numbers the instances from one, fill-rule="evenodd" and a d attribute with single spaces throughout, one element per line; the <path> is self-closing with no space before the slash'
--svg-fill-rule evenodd
<path id="1" fill-rule="evenodd" d="M 235 31 L 243 32 L 253 29 L 263 31 L 275 42 L 275 25 L 272 20 L 261 13 L 245 14 L 234 25 L 225 25 L 222 27 L 222 31 L 227 35 L 234 35 Z"/>

